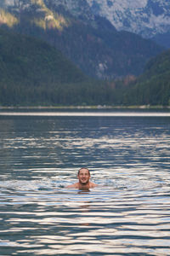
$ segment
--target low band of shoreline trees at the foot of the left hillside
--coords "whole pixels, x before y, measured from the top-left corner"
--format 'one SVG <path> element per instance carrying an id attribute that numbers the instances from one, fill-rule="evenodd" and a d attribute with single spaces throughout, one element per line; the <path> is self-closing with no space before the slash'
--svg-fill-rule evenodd
<path id="1" fill-rule="evenodd" d="M 50 84 L 48 87 L 10 84 L 1 86 L 0 102 L 2 106 L 113 105 L 117 96 L 116 90 L 105 87 L 103 82 Z"/>

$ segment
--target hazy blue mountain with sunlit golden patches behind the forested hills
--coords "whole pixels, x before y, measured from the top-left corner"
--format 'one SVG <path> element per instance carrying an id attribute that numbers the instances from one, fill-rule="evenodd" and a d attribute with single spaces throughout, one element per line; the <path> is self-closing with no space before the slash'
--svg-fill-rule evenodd
<path id="1" fill-rule="evenodd" d="M 118 32 L 86 0 L 3 0 L 0 24 L 42 38 L 92 78 L 142 73 L 162 48 L 132 32 Z"/>

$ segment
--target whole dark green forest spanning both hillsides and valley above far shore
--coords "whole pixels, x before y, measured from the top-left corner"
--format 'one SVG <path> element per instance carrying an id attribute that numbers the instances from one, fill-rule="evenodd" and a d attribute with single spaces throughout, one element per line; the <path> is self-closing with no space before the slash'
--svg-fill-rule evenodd
<path id="1" fill-rule="evenodd" d="M 89 79 L 43 41 L 0 30 L 0 106 L 170 105 L 170 50 L 138 78 Z"/>

